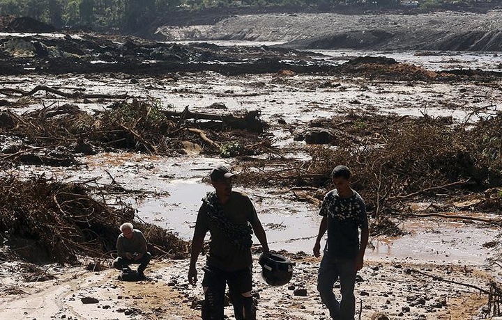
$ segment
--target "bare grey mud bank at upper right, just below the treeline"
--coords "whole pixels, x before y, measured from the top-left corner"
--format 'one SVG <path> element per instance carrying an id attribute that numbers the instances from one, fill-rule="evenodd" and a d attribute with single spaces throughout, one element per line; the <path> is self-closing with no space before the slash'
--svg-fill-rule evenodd
<path id="1" fill-rule="evenodd" d="M 296 49 L 501 51 L 502 12 L 261 13 L 188 26 L 159 22 L 158 40 L 283 42 Z"/>

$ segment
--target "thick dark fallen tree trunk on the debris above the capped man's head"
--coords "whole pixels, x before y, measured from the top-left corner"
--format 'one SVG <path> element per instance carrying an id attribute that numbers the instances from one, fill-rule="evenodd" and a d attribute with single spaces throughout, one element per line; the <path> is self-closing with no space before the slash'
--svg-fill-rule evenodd
<path id="1" fill-rule="evenodd" d="M 259 118 L 259 111 L 248 111 L 243 117 L 236 117 L 234 115 L 217 115 L 212 113 L 198 113 L 185 108 L 182 112 L 162 110 L 167 117 L 178 118 L 178 127 L 186 119 L 197 120 L 213 120 L 221 121 L 232 129 L 246 129 L 253 132 L 263 132 L 265 129 L 264 122 Z"/>

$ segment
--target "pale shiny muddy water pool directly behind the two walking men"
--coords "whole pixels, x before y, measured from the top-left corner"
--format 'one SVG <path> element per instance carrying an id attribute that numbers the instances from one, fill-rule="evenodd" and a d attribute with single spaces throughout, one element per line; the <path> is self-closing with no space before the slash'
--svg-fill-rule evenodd
<path id="1" fill-rule="evenodd" d="M 138 215 L 146 222 L 165 227 L 182 239 L 190 240 L 201 198 L 213 188 L 194 178 L 171 181 L 165 190 L 169 192 L 167 197 L 139 202 Z M 255 190 L 248 191 L 248 194 L 257 208 L 272 250 L 312 253 L 321 221 L 317 208 L 292 200 L 287 191 Z M 494 228 L 479 227 L 476 223 L 435 218 L 411 218 L 403 221 L 400 227 L 408 234 L 397 238 L 371 239 L 367 259 L 484 264 L 489 249 L 482 245 L 492 241 L 497 234 Z M 256 238 L 254 242 L 258 243 Z M 324 245 L 325 241 L 322 243 Z"/>

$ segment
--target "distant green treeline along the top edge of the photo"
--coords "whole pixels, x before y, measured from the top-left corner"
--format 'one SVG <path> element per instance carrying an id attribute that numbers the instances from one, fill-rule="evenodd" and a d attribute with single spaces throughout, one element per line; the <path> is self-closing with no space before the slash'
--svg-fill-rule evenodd
<path id="1" fill-rule="evenodd" d="M 343 6 L 363 8 L 434 8 L 480 6 L 502 0 L 0 0 L 0 16 L 32 17 L 56 28 L 89 27 L 135 31 L 158 17 L 177 11 L 214 8 L 296 7 L 330 10 Z"/>

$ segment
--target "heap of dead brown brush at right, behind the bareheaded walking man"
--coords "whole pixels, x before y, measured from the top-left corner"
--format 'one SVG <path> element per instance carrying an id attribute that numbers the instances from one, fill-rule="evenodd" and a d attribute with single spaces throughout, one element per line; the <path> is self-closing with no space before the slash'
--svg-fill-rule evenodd
<path id="1" fill-rule="evenodd" d="M 429 115 L 412 118 L 351 113 L 316 120 L 310 127 L 332 131 L 333 138 L 324 145 L 309 145 L 305 152 L 310 160 L 241 161 L 241 182 L 308 187 L 310 191 L 304 192 L 303 198 L 317 199 L 319 205 L 330 189 L 333 165 L 345 163 L 355 173 L 354 189 L 363 195 L 376 218 L 374 234 L 384 228 L 385 234 L 395 235 L 398 231 L 388 218 L 411 213 L 407 203 L 418 200 L 448 203 L 454 198 L 476 198 L 467 208 L 444 205 L 439 209 L 500 212 L 502 193 L 496 190 L 502 185 L 501 121 L 500 112 L 469 128 L 450 118 Z"/>

